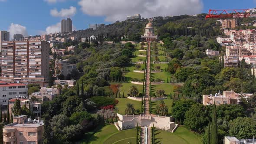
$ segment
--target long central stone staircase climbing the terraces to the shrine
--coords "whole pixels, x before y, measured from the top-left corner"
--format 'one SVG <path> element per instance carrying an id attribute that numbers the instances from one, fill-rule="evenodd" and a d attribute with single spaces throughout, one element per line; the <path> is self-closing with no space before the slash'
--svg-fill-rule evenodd
<path id="1" fill-rule="evenodd" d="M 145 79 L 145 95 L 144 95 L 144 116 L 150 115 L 149 113 L 149 96 L 150 96 L 150 61 L 151 61 L 151 42 L 148 42 L 147 48 L 147 62 L 146 62 L 146 79 Z M 141 125 L 141 143 L 151 144 L 151 131 L 150 127 Z"/>

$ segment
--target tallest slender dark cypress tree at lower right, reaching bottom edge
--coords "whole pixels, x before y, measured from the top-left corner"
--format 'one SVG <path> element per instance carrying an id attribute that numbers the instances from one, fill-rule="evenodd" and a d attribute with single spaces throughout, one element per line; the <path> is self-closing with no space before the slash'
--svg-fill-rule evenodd
<path id="1" fill-rule="evenodd" d="M 212 125 L 210 128 L 210 144 L 218 144 L 217 113 L 215 101 L 213 103 Z"/>

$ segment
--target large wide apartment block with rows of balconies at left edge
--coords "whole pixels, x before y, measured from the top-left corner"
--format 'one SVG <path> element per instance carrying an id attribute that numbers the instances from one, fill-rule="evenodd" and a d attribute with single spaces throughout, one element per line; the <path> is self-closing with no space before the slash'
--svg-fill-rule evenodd
<path id="1" fill-rule="evenodd" d="M 2 42 L 0 65 L 2 81 L 46 85 L 49 76 L 49 43 Z"/>

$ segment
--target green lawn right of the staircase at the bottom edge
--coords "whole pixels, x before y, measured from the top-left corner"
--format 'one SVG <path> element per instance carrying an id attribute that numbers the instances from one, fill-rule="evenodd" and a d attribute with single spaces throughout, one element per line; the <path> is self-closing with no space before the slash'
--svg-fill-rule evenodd
<path id="1" fill-rule="evenodd" d="M 200 138 L 193 132 L 183 127 L 178 127 L 174 133 L 157 130 L 155 131 L 156 144 L 202 144 Z"/>

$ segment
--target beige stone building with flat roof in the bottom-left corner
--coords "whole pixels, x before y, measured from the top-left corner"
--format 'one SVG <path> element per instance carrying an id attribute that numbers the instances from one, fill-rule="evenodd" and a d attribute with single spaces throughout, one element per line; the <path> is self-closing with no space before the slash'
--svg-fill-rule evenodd
<path id="1" fill-rule="evenodd" d="M 3 127 L 3 144 L 43 144 L 44 122 L 27 118 L 27 115 L 13 117 L 13 123 Z"/>

